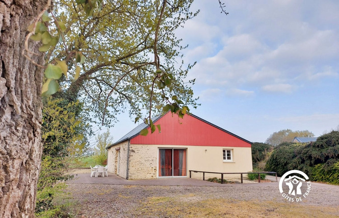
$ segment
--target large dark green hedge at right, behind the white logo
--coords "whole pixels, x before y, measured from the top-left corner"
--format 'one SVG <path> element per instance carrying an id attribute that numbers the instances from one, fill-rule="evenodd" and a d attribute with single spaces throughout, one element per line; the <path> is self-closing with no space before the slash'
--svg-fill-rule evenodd
<path id="1" fill-rule="evenodd" d="M 278 145 L 266 163 L 266 170 L 277 172 L 278 176 L 290 170 L 300 170 L 310 180 L 338 184 L 338 162 L 339 131 L 332 131 L 307 145 Z"/>

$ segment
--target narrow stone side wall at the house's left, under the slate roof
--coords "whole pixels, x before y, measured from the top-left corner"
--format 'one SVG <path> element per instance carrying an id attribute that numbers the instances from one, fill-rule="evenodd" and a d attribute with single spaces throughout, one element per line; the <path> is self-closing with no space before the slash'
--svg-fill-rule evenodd
<path id="1" fill-rule="evenodd" d="M 119 150 L 116 150 L 119 147 L 120 155 L 118 155 Z M 118 174 L 122 178 L 127 177 L 127 148 L 128 141 L 124 141 L 108 149 L 108 172 Z"/>

